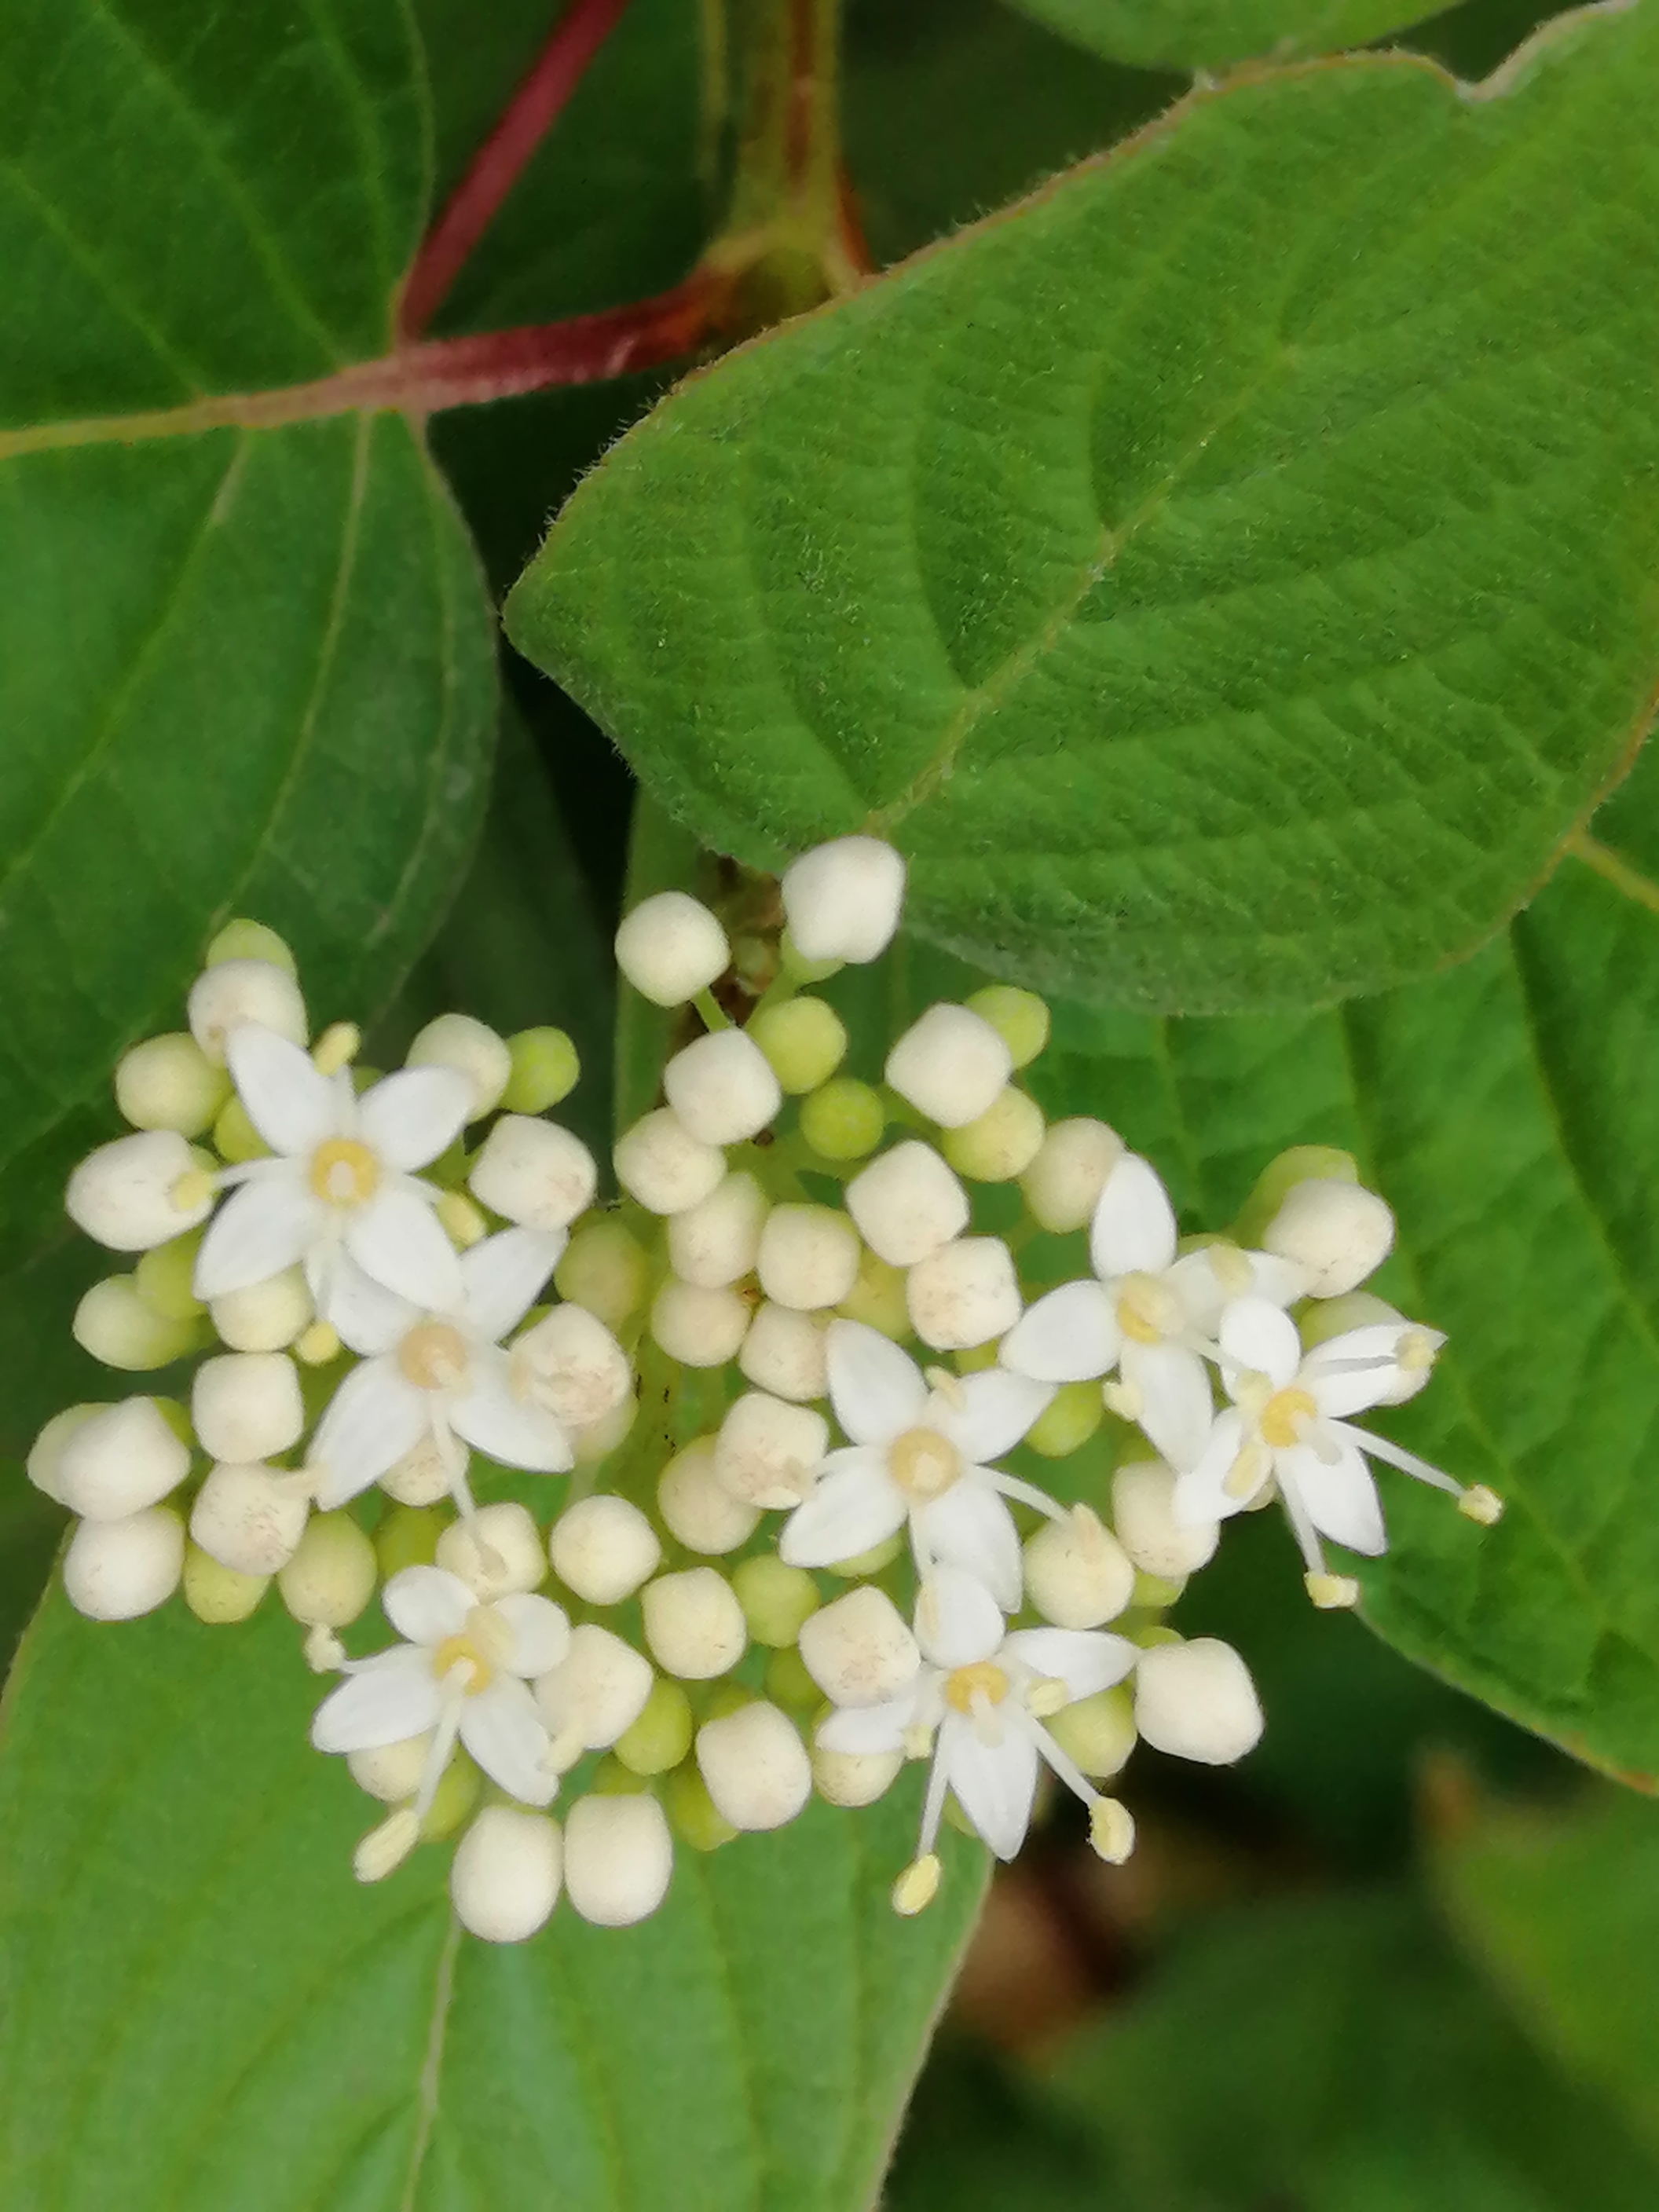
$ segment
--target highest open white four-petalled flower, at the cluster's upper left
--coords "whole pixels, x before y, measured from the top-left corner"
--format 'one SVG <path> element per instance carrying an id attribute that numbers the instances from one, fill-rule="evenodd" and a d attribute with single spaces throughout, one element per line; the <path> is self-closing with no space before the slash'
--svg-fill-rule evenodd
<path id="1" fill-rule="evenodd" d="M 301 1261 L 319 1314 L 341 1334 L 358 1307 L 383 1307 L 385 1292 L 451 1305 L 456 1250 L 431 1212 L 438 1192 L 414 1170 L 460 1133 L 469 1079 L 400 1068 L 356 1097 L 349 1068 L 321 1075 L 296 1044 L 254 1022 L 230 1031 L 226 1062 L 274 1157 L 219 1177 L 241 1188 L 201 1239 L 197 1296 L 248 1290 Z"/>

